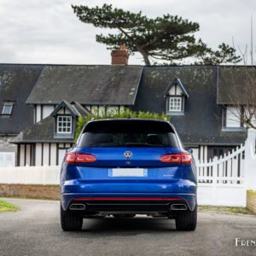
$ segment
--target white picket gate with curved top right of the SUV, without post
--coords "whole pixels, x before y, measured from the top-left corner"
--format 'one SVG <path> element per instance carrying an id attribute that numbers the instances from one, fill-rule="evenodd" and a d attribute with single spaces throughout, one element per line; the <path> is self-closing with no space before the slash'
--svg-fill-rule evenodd
<path id="1" fill-rule="evenodd" d="M 209 162 L 197 163 L 200 205 L 246 206 L 245 146 Z"/>

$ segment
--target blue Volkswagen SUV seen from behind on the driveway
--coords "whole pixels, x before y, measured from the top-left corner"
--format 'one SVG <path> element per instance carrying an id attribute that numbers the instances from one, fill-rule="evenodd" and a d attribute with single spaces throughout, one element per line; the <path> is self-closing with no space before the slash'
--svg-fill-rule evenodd
<path id="1" fill-rule="evenodd" d="M 173 125 L 157 119 L 97 119 L 84 125 L 61 166 L 61 228 L 83 218 L 136 214 L 196 227 L 196 170 Z"/>

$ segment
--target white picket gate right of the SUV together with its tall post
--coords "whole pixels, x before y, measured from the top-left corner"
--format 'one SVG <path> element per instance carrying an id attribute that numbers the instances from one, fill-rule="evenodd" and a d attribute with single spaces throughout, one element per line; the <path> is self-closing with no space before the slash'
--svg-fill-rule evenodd
<path id="1" fill-rule="evenodd" d="M 196 166 L 199 205 L 245 207 L 246 190 L 256 189 L 255 131 L 244 146 Z"/>

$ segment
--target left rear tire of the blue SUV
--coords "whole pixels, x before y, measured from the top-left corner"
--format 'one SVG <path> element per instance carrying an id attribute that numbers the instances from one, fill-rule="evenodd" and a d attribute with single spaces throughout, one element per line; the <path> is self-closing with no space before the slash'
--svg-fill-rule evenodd
<path id="1" fill-rule="evenodd" d="M 64 231 L 82 230 L 83 218 L 71 211 L 64 211 L 61 206 L 61 229 Z"/>

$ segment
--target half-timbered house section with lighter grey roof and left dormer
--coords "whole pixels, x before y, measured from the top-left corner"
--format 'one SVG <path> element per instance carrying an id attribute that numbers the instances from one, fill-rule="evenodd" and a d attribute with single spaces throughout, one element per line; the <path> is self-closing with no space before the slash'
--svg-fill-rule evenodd
<path id="1" fill-rule="evenodd" d="M 34 124 L 16 137 L 18 165 L 59 165 L 73 146 L 79 115 L 131 108 L 143 67 L 45 66 L 26 104 Z"/>

